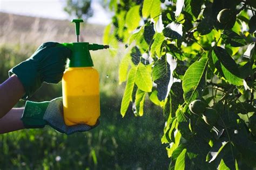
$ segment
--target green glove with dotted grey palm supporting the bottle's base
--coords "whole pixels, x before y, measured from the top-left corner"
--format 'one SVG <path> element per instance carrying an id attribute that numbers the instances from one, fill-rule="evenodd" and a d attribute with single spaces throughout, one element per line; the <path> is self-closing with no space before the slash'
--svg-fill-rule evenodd
<path id="1" fill-rule="evenodd" d="M 86 124 L 65 125 L 62 97 L 55 98 L 50 102 L 26 101 L 21 120 L 26 129 L 44 128 L 45 125 L 50 125 L 58 132 L 66 134 L 89 131 L 99 124 L 99 121 L 97 121 L 94 126 Z"/>

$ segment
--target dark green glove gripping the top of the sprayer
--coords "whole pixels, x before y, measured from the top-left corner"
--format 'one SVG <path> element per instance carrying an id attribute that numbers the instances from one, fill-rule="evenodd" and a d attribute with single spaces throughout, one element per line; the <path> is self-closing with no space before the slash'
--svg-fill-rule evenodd
<path id="1" fill-rule="evenodd" d="M 66 59 L 70 55 L 70 49 L 58 42 L 45 42 L 29 59 L 12 68 L 9 76 L 17 75 L 25 89 L 23 99 L 27 99 L 43 82 L 58 83 L 62 80 Z"/>

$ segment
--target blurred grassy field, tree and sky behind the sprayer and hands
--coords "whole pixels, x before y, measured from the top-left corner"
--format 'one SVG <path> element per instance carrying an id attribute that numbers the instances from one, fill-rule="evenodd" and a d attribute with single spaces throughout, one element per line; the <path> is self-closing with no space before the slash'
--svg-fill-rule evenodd
<path id="1" fill-rule="evenodd" d="M 107 1 L 0 0 L 0 83 L 8 70 L 29 58 L 46 41 L 76 41 L 72 18 L 83 18 L 80 39 L 102 44 L 104 27 L 111 23 Z M 125 54 L 91 52 L 100 73 L 100 125 L 70 136 L 49 127 L 0 135 L 0 169 L 167 169 L 161 144 L 164 118 L 148 100 L 144 116 L 120 115 L 125 84 L 118 84 L 118 65 Z M 62 96 L 61 82 L 43 84 L 31 101 Z M 19 101 L 16 107 L 23 107 Z M 130 106 L 131 107 L 131 106 Z"/>

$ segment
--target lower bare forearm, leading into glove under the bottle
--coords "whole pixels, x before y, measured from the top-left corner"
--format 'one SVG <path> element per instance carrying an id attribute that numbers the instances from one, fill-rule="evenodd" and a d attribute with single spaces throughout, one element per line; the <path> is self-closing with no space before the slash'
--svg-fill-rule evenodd
<path id="1" fill-rule="evenodd" d="M 24 108 L 11 109 L 0 119 L 0 134 L 24 129 L 21 121 Z"/>

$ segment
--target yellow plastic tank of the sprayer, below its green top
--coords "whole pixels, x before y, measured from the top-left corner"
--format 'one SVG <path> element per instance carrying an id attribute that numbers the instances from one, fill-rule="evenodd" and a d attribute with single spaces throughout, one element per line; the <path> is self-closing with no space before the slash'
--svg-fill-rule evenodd
<path id="1" fill-rule="evenodd" d="M 70 67 L 62 79 L 66 125 L 95 125 L 100 116 L 99 74 L 93 67 Z"/>

